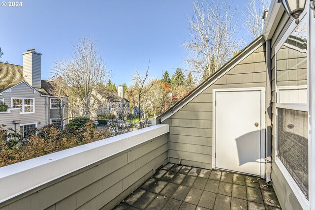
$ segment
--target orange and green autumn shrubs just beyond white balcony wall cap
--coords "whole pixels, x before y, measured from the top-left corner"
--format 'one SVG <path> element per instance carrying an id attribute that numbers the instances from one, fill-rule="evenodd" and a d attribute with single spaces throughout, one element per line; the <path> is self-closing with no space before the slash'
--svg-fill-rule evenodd
<path id="1" fill-rule="evenodd" d="M 0 126 L 0 130 L 3 131 L 4 127 Z M 75 132 L 72 129 L 61 130 L 56 124 L 33 130 L 26 138 L 13 129 L 7 129 L 6 132 L 8 132 L 7 141 L 0 142 L 0 167 L 111 136 L 107 129 L 96 130 L 92 121 L 76 129 Z"/>

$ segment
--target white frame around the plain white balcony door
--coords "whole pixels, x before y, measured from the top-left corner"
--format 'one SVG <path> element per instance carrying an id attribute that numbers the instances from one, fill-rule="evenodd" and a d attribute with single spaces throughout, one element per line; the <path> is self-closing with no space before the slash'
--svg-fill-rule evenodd
<path id="1" fill-rule="evenodd" d="M 265 153 L 265 132 L 266 132 L 266 115 L 265 115 L 265 88 L 231 88 L 231 89 L 213 89 L 212 94 L 212 111 L 213 111 L 213 123 L 212 123 L 212 168 L 216 168 L 216 93 L 217 92 L 235 92 L 235 91 L 260 91 L 260 107 L 261 107 L 261 114 L 260 114 L 260 125 L 261 125 L 261 132 L 260 132 L 260 177 L 265 179 L 266 174 L 266 153 Z"/>

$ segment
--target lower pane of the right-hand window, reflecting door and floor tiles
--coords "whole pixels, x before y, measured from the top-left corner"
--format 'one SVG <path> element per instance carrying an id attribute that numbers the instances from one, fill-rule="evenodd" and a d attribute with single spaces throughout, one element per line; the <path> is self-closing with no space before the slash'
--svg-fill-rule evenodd
<path id="1" fill-rule="evenodd" d="M 307 112 L 278 108 L 278 157 L 308 198 Z"/>

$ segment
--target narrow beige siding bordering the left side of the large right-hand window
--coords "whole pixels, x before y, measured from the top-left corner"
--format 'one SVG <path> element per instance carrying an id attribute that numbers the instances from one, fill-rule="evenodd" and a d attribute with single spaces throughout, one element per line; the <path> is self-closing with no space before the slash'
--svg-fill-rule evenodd
<path id="1" fill-rule="evenodd" d="M 273 187 L 277 194 L 278 200 L 281 204 L 282 209 L 284 210 L 302 210 L 302 207 L 297 200 L 296 196 L 294 195 L 291 187 L 289 186 L 288 182 L 285 180 L 283 173 L 280 171 L 278 165 L 275 163 L 276 157 L 276 57 L 275 57 L 275 47 L 281 37 L 283 36 L 285 30 L 287 29 L 288 23 L 288 16 L 286 13 L 283 14 L 280 23 L 275 31 L 272 39 L 271 39 L 271 103 L 272 103 L 272 120 L 271 120 L 271 134 L 272 134 L 272 164 L 271 164 L 271 179 L 273 181 Z M 282 78 L 283 83 L 288 83 L 288 78 Z M 285 81 L 287 80 L 287 81 Z"/>

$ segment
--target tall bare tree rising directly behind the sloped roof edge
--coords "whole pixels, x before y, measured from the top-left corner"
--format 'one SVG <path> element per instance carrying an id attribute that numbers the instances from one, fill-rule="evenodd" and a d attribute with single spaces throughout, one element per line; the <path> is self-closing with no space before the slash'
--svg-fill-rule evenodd
<path id="1" fill-rule="evenodd" d="M 238 47 L 236 9 L 231 10 L 225 0 L 196 0 L 192 5 L 194 14 L 188 16 L 191 39 L 183 44 L 190 57 L 187 61 L 199 77 L 204 69 L 212 75 Z"/>

